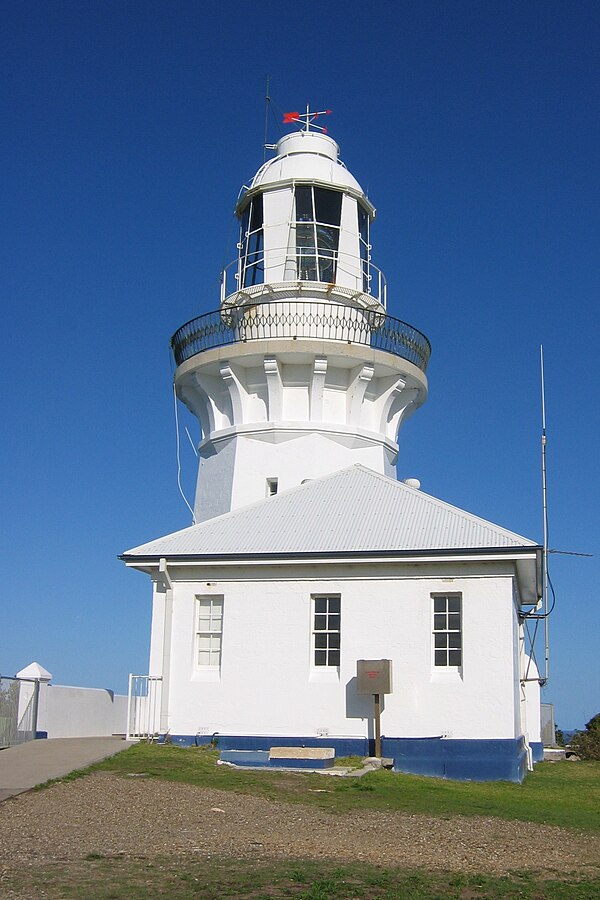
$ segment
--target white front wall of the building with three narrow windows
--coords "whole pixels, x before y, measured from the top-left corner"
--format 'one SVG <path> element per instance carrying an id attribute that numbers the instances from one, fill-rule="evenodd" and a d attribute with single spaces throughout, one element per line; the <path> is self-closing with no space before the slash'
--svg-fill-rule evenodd
<path id="1" fill-rule="evenodd" d="M 517 737 L 511 566 L 474 564 L 472 573 L 458 565 L 442 573 L 431 564 L 345 570 L 331 564 L 312 566 L 302 578 L 298 568 L 288 574 L 282 567 L 177 575 L 168 729 L 192 735 L 310 736 L 325 728 L 332 736 L 370 736 L 372 703 L 356 694 L 356 660 L 390 658 L 394 692 L 385 698 L 384 734 Z M 174 578 L 172 569 L 170 574 Z M 435 592 L 463 596 L 461 671 L 433 666 Z M 315 593 L 342 597 L 339 672 L 311 665 L 310 598 Z M 225 598 L 220 672 L 196 666 L 197 594 Z M 157 636 L 153 646 L 158 643 Z"/>

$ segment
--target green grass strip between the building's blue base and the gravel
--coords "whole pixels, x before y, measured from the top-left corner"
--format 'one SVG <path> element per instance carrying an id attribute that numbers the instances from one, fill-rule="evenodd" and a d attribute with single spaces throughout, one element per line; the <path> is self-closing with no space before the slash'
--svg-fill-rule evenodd
<path id="1" fill-rule="evenodd" d="M 92 767 L 180 781 L 330 812 L 382 809 L 450 818 L 496 816 L 564 828 L 600 830 L 600 762 L 539 763 L 523 784 L 460 782 L 378 770 L 353 778 L 217 766 L 217 751 L 136 744 Z M 352 785 L 361 785 L 360 788 Z M 326 789 L 326 792 L 323 792 Z"/>

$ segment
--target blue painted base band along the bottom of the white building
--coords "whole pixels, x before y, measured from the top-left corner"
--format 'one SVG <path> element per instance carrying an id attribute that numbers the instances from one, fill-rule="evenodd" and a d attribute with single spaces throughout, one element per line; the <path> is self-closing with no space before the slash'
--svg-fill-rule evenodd
<path id="1" fill-rule="evenodd" d="M 182 747 L 214 743 L 220 751 L 266 751 L 270 747 L 333 747 L 336 756 L 372 756 L 375 749 L 374 742 L 367 738 L 339 737 L 172 735 L 171 742 Z M 537 754 L 537 745 L 533 746 Z M 395 772 L 410 775 L 430 775 L 458 781 L 520 783 L 527 772 L 527 751 L 523 737 L 505 740 L 382 737 L 381 750 L 383 756 L 394 760 Z M 316 768 L 314 760 L 310 762 L 313 764 L 309 768 Z M 260 763 L 255 762 L 254 765 Z"/>

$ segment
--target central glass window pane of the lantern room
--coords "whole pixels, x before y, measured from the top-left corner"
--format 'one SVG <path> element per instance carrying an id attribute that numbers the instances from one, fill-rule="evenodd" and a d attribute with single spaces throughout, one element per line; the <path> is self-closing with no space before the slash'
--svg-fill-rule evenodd
<path id="1" fill-rule="evenodd" d="M 296 187 L 296 256 L 301 281 L 335 282 L 342 195 L 327 188 Z"/>

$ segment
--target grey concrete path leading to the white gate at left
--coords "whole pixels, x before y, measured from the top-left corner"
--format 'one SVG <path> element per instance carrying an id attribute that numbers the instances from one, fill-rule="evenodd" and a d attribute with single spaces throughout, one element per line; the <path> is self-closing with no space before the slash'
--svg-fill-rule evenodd
<path id="1" fill-rule="evenodd" d="M 84 769 L 130 746 L 131 742 L 119 737 L 49 738 L 0 750 L 0 800 Z"/>

